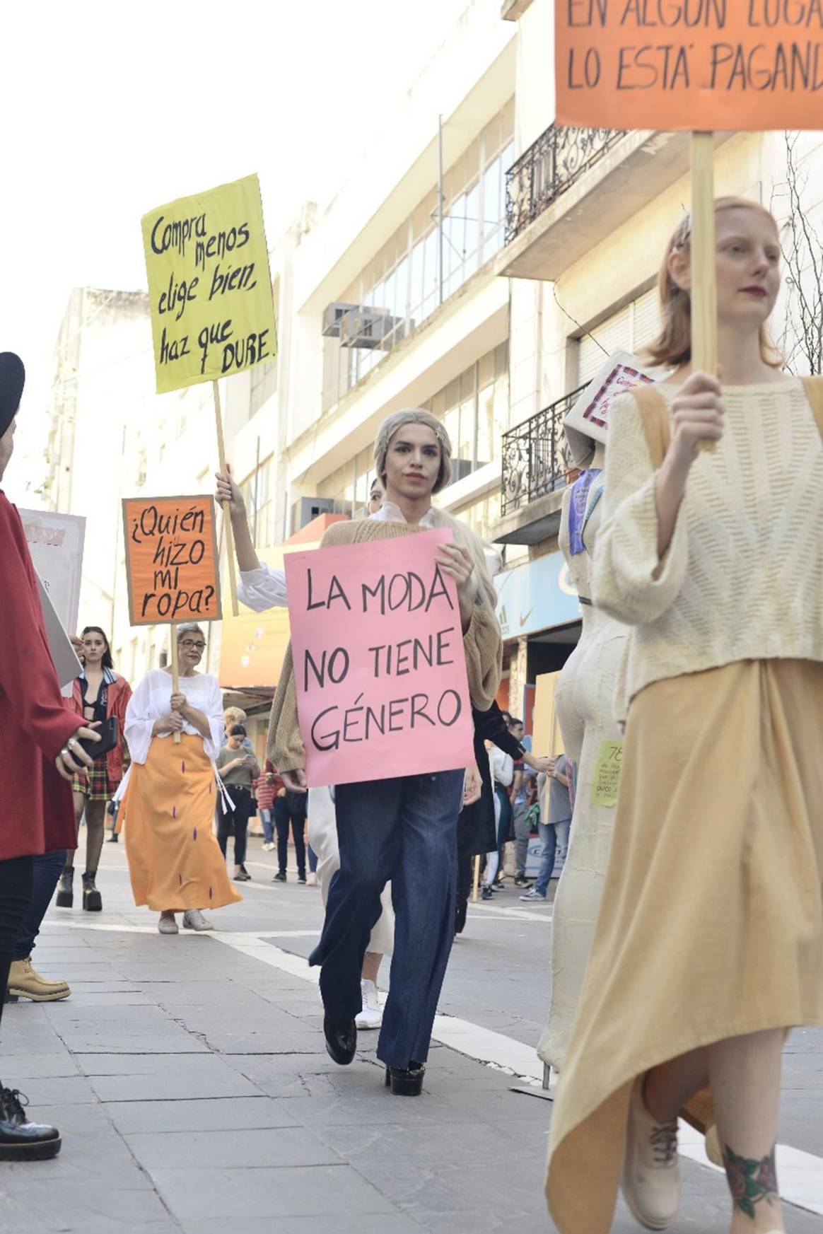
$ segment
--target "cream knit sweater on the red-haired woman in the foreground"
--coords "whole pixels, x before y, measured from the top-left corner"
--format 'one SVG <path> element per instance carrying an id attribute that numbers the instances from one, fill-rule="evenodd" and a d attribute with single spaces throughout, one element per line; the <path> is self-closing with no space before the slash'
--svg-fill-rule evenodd
<path id="1" fill-rule="evenodd" d="M 669 404 L 675 391 L 660 387 Z M 735 660 L 823 660 L 823 443 L 800 380 L 726 386 L 658 558 L 655 473 L 631 394 L 610 415 L 593 602 L 632 626 L 617 719 L 644 686 Z M 823 700 L 822 700 L 823 706 Z"/>

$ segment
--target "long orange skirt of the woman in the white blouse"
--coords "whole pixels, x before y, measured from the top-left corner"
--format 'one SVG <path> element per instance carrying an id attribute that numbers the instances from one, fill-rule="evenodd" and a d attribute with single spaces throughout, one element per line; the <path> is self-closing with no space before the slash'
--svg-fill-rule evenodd
<path id="1" fill-rule="evenodd" d="M 243 897 L 215 839 L 215 772 L 202 738 L 154 738 L 120 805 L 136 905 L 155 912 L 220 908 Z"/>

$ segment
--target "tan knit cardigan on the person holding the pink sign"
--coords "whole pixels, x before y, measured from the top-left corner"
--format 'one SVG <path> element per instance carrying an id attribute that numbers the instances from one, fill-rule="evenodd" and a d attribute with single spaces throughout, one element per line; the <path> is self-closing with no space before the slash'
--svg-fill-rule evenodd
<path id="1" fill-rule="evenodd" d="M 390 523 L 375 518 L 332 523 L 323 534 L 321 548 L 332 548 L 338 544 L 362 544 L 368 540 L 400 539 L 403 536 L 413 536 L 416 532 L 428 529 L 418 523 Z M 487 711 L 500 686 L 503 649 L 497 618 L 485 606 L 475 606 L 469 628 L 463 636 L 463 648 L 471 702 L 480 711 Z M 295 768 L 306 765 L 306 752 L 297 723 L 297 695 L 291 643 L 286 648 L 280 681 L 271 705 L 267 753 L 279 771 L 294 771 Z"/>

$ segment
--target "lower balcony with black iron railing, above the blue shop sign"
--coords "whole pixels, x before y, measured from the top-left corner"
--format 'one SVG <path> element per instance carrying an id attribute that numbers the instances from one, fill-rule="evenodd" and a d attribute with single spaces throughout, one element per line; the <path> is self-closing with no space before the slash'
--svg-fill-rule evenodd
<path id="1" fill-rule="evenodd" d="M 577 474 L 564 420 L 585 386 L 503 433 L 498 544 L 537 544 L 556 536 L 563 490 Z"/>

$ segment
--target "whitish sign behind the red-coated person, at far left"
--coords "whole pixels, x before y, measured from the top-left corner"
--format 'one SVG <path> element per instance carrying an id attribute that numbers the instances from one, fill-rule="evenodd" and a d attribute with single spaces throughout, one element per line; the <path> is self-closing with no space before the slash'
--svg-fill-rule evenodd
<path id="1" fill-rule="evenodd" d="M 85 518 L 21 510 L 28 552 L 64 631 L 75 631 L 83 579 Z"/>

